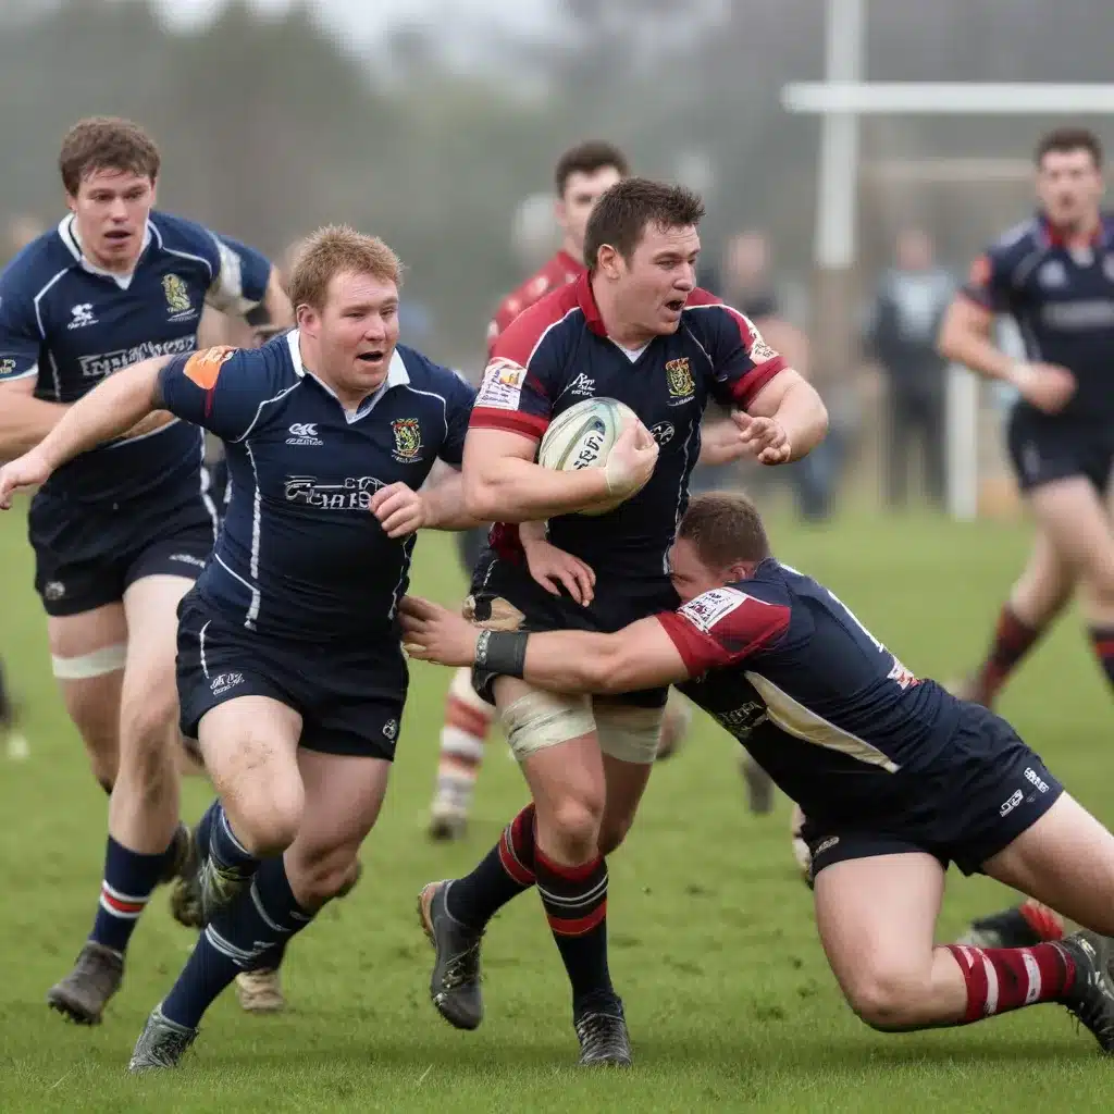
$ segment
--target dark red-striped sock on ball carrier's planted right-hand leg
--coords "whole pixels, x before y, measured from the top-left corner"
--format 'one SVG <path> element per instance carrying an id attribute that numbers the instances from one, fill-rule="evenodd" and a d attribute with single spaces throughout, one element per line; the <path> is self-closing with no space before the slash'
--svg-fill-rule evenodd
<path id="1" fill-rule="evenodd" d="M 574 1010 L 586 998 L 613 995 L 607 969 L 607 863 L 596 856 L 566 867 L 540 848 L 535 849 L 534 862 L 541 905 L 573 985 Z"/>

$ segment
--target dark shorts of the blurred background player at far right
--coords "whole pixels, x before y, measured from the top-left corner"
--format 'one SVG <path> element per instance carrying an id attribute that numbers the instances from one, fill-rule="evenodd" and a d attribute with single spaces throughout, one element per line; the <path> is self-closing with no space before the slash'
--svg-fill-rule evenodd
<path id="1" fill-rule="evenodd" d="M 1015 405 L 1006 434 L 1009 458 L 1023 491 L 1083 476 L 1100 495 L 1114 465 L 1114 422 L 1081 422 Z"/>

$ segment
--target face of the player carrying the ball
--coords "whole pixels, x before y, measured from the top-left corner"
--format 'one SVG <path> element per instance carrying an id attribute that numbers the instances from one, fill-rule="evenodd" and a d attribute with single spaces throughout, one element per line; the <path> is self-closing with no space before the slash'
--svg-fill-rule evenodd
<path id="1" fill-rule="evenodd" d="M 696 286 L 700 236 L 692 225 L 649 224 L 627 263 L 616 256 L 616 303 L 624 324 L 649 336 L 675 333 Z"/>

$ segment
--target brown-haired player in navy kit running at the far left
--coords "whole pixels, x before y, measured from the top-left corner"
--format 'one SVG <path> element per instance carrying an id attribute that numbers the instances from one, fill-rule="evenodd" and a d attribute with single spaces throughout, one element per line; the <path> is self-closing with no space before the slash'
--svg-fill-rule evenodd
<path id="1" fill-rule="evenodd" d="M 153 211 L 159 155 L 135 125 L 80 121 L 59 166 L 71 212 L 0 275 L 0 458 L 37 444 L 121 368 L 189 352 L 206 302 L 289 316 L 262 255 Z M 52 475 L 29 516 L 55 675 L 111 794 L 96 922 L 48 994 L 86 1024 L 100 1020 L 153 889 L 188 847 L 178 828 L 174 613 L 216 526 L 198 429 L 160 413 L 116 432 Z"/>

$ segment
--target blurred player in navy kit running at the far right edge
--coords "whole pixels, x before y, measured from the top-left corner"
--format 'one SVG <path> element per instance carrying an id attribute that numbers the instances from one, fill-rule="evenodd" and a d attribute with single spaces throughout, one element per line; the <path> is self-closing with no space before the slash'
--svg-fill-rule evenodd
<path id="1" fill-rule="evenodd" d="M 1114 461 L 1114 217 L 1100 209 L 1103 149 L 1082 128 L 1036 148 L 1040 208 L 976 260 L 939 336 L 944 355 L 1017 388 L 1009 455 L 1036 521 L 1028 564 L 961 694 L 990 706 L 1079 588 L 1092 645 L 1114 683 L 1114 534 L 1105 505 Z M 990 341 L 1009 314 L 1027 361 Z"/>

